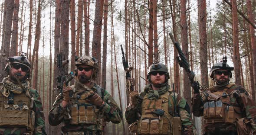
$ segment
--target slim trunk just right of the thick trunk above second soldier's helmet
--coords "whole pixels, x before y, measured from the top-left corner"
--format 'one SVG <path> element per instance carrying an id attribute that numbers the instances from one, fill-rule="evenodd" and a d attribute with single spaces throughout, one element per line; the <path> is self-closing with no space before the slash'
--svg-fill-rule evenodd
<path id="1" fill-rule="evenodd" d="M 103 29 L 103 57 L 102 57 L 102 82 L 105 85 L 107 70 L 107 35 L 108 32 L 108 0 L 104 0 L 104 29 Z M 104 86 L 105 87 L 105 86 Z"/>

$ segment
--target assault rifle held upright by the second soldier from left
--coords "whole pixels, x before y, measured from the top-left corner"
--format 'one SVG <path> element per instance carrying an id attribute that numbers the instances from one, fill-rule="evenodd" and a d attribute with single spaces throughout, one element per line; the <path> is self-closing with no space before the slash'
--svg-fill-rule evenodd
<path id="1" fill-rule="evenodd" d="M 58 82 L 55 90 L 55 96 L 58 96 L 59 93 L 61 93 L 62 96 L 62 90 L 63 87 L 66 87 L 69 85 L 69 82 L 74 78 L 74 73 L 70 72 L 69 74 L 65 71 L 65 65 L 69 63 L 68 59 L 65 59 L 65 55 L 63 50 L 63 40 L 62 38 L 59 38 L 59 53 L 57 54 L 57 67 L 59 69 L 59 76 L 56 77 L 56 80 Z"/>

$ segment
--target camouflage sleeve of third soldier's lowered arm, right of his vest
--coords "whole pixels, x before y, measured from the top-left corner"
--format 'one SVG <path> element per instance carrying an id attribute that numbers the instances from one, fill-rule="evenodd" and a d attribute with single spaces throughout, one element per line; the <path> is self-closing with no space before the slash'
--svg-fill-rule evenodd
<path id="1" fill-rule="evenodd" d="M 196 127 L 190 115 L 190 107 L 187 101 L 182 97 L 179 103 L 181 125 L 185 135 L 196 135 Z"/>

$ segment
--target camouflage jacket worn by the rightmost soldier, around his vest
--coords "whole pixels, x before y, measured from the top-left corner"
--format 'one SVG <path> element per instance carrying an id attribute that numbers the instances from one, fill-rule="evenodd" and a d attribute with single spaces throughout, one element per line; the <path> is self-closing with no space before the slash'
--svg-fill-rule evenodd
<path id="1" fill-rule="evenodd" d="M 230 87 L 229 87 L 230 86 Z M 243 118 L 248 119 L 248 125 L 250 125 L 250 128 L 253 130 L 253 132 L 256 131 L 256 106 L 253 103 L 253 100 L 250 98 L 249 94 L 245 90 L 245 88 L 241 85 L 237 85 L 234 83 L 230 83 L 224 87 L 218 87 L 213 86 L 209 89 L 210 92 L 218 92 L 226 90 L 228 92 L 228 95 L 230 97 L 230 104 L 233 107 L 238 108 L 239 110 L 235 110 L 235 112 L 240 112 L 240 116 Z M 207 102 L 207 91 L 202 92 L 201 94 L 194 94 L 192 97 L 192 112 L 195 116 L 203 116 L 204 114 L 204 103 Z M 220 98 L 221 100 L 222 98 Z M 223 101 L 224 103 L 225 101 Z M 238 119 L 235 118 L 238 122 Z M 205 120 L 205 119 L 203 119 Z M 217 123 L 215 124 L 217 126 Z M 209 126 L 208 124 L 204 124 L 202 127 L 202 134 L 207 132 L 206 127 Z M 210 125 L 212 126 L 212 125 Z M 236 128 L 235 126 L 233 126 Z M 215 130 L 215 127 L 212 127 Z M 220 129 L 218 127 L 217 129 Z M 236 129 L 234 129 L 236 130 Z"/>

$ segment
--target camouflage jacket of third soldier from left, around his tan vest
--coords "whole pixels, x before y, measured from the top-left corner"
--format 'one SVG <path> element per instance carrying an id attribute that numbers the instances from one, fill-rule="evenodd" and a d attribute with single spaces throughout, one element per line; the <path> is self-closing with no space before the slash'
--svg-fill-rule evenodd
<path id="1" fill-rule="evenodd" d="M 147 87 L 151 88 L 149 86 L 147 86 Z M 171 100 L 174 101 L 174 94 L 173 94 L 173 91 L 171 91 L 171 88 L 169 90 L 167 90 L 164 94 L 161 94 L 158 99 L 163 99 L 162 96 L 166 95 L 166 93 L 168 93 L 168 95 L 171 94 L 171 99 L 168 100 L 169 112 L 168 111 L 167 112 L 171 116 L 174 116 L 174 114 L 173 114 L 174 110 L 170 109 L 170 108 L 172 108 Z M 144 102 L 144 100 L 146 100 L 148 98 L 148 92 L 146 90 L 141 92 L 139 95 L 144 97 L 142 103 Z M 190 107 L 187 104 L 187 101 L 177 93 L 175 93 L 175 100 L 176 100 L 176 105 L 177 105 L 176 110 L 177 110 L 178 116 L 181 117 L 182 132 L 184 133 L 184 135 L 195 135 L 196 128 L 194 125 L 194 121 L 190 115 Z M 137 108 L 139 108 L 139 109 L 137 109 Z M 131 107 L 131 103 L 129 104 L 129 106 L 127 106 L 127 108 L 125 110 L 125 120 L 128 124 L 138 122 L 138 120 L 140 118 L 138 117 L 137 113 L 141 114 L 143 112 L 143 110 L 141 108 L 142 108 L 141 104 L 137 105 L 135 108 Z M 138 112 L 138 110 L 139 110 L 139 112 Z"/>

